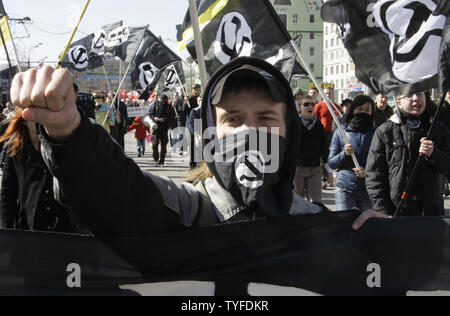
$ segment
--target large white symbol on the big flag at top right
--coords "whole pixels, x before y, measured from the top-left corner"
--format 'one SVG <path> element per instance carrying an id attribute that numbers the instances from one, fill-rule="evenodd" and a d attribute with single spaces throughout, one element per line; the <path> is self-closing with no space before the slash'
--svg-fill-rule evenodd
<path id="1" fill-rule="evenodd" d="M 438 73 L 446 17 L 433 15 L 436 8 L 431 0 L 381 0 L 375 4 L 375 20 L 389 35 L 392 70 L 399 80 L 411 83 Z"/>

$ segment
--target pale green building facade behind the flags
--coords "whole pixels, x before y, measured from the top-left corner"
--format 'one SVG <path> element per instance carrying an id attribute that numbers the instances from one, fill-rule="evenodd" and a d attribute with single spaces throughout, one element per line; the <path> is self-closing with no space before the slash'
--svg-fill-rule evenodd
<path id="1" fill-rule="evenodd" d="M 309 63 L 317 80 L 323 81 L 323 21 L 320 16 L 323 1 L 312 0 L 271 0 L 292 38 L 301 35 L 300 51 Z M 293 89 L 299 87 L 307 91 L 309 78 L 291 82 Z"/>

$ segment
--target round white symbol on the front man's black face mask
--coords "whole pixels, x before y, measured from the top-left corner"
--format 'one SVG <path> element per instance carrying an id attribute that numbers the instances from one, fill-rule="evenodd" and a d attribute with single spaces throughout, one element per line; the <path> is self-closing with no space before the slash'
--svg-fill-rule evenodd
<path id="1" fill-rule="evenodd" d="M 236 160 L 236 178 L 243 186 L 257 189 L 264 184 L 264 156 L 256 150 L 247 151 Z"/>

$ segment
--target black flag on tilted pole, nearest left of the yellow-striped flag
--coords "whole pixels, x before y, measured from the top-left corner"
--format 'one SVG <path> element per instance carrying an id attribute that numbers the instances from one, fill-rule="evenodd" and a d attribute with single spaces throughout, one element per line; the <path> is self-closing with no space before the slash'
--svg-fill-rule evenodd
<path id="1" fill-rule="evenodd" d="M 170 48 L 149 30 L 145 33 L 142 47 L 138 52 L 131 74 L 133 88 L 144 90 L 141 99 L 148 99 L 156 88 L 165 68 L 175 62 L 181 61 Z"/>

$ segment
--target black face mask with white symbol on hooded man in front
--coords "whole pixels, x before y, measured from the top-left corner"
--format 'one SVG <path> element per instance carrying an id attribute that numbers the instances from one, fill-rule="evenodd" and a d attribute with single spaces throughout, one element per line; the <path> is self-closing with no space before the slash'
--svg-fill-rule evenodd
<path id="1" fill-rule="evenodd" d="M 267 216 L 277 216 L 282 203 L 279 200 L 286 194 L 292 195 L 280 192 L 279 186 L 286 151 L 286 140 L 281 136 L 245 131 L 216 141 L 213 169 L 219 183 L 240 204 Z"/>

